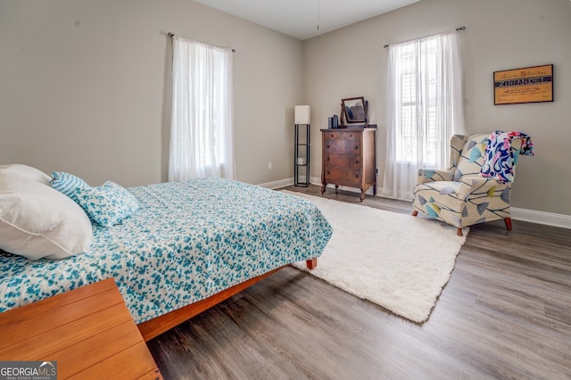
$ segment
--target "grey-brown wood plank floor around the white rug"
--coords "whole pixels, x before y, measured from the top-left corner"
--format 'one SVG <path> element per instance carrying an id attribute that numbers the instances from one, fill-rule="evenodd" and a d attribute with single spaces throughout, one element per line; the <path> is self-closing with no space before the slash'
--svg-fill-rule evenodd
<path id="1" fill-rule="evenodd" d="M 411 212 L 410 202 L 362 204 Z M 422 325 L 288 267 L 148 346 L 165 379 L 571 379 L 571 230 L 471 227 Z"/>

